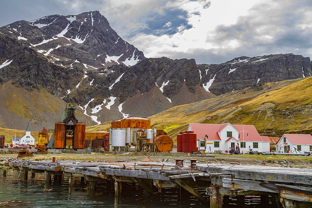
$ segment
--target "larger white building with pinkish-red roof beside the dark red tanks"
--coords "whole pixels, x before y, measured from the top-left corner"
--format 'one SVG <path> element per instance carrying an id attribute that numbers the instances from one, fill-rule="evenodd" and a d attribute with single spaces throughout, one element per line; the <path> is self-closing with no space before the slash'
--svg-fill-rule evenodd
<path id="1" fill-rule="evenodd" d="M 188 131 L 194 131 L 197 139 L 206 141 L 206 152 L 235 149 L 236 145 L 245 153 L 249 149 L 258 152 L 270 151 L 270 139 L 262 138 L 254 125 L 190 123 Z M 201 150 L 204 147 L 198 148 Z"/>

